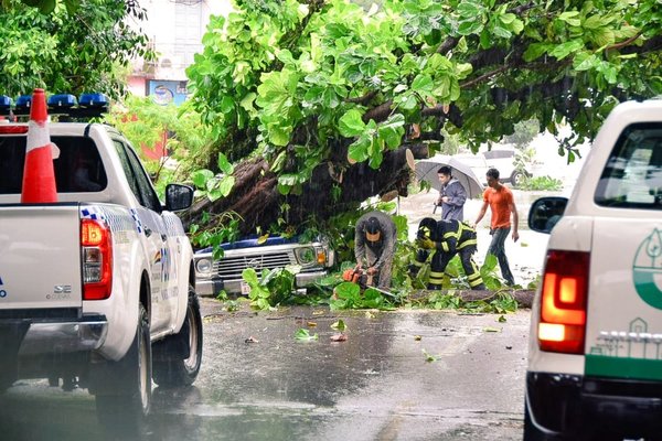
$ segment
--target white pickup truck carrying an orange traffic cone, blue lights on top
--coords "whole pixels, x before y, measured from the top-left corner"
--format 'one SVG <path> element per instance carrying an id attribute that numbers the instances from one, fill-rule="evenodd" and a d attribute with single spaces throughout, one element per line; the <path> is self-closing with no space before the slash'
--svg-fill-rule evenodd
<path id="1" fill-rule="evenodd" d="M 99 420 L 141 424 L 160 386 L 193 383 L 202 321 L 193 251 L 128 141 L 55 122 L 57 203 L 21 204 L 28 125 L 0 122 L 0 391 L 17 379 L 87 387 Z M 62 381 L 62 383 L 61 383 Z"/>

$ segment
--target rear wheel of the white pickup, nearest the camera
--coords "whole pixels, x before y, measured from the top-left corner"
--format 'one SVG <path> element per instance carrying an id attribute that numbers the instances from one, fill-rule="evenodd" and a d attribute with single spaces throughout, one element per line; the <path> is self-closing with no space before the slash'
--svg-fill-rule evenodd
<path id="1" fill-rule="evenodd" d="M 151 405 L 151 344 L 147 311 L 140 305 L 138 329 L 129 352 L 106 370 L 121 379 L 115 392 L 96 394 L 97 416 L 113 435 L 132 437 L 145 427 Z"/>

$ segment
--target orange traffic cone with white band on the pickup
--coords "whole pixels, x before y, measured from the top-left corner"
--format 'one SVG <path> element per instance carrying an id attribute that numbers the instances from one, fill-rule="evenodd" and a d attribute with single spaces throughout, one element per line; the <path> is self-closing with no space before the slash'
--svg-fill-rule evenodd
<path id="1" fill-rule="evenodd" d="M 55 172 L 46 96 L 44 89 L 34 89 L 28 123 L 28 146 L 23 168 L 23 192 L 21 203 L 57 202 Z"/>

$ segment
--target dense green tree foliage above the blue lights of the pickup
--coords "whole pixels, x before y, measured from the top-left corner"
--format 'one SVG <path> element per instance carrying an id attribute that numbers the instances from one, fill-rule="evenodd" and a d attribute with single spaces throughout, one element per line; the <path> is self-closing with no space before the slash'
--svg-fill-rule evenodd
<path id="1" fill-rule="evenodd" d="M 0 8 L 0 94 L 18 96 L 34 87 L 50 93 L 103 92 L 119 96 L 126 77 L 120 69 L 134 57 L 151 57 L 147 36 L 125 19 L 142 10 L 116 0 L 2 0 Z M 51 2 L 44 2 L 51 4 Z M 39 4 L 38 4 L 39 6 Z"/>

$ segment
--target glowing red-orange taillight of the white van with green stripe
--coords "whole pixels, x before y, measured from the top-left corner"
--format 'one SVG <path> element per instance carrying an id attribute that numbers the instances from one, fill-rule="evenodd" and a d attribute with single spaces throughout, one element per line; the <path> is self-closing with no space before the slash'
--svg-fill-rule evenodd
<path id="1" fill-rule="evenodd" d="M 537 329 L 542 351 L 584 353 L 589 263 L 589 252 L 547 254 Z"/>

